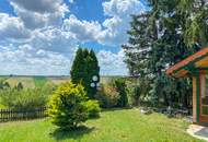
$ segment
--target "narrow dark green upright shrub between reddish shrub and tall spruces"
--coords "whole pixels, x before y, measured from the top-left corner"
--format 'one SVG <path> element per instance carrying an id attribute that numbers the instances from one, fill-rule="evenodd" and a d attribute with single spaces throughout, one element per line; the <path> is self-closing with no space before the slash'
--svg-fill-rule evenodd
<path id="1" fill-rule="evenodd" d="M 117 102 L 118 107 L 126 107 L 128 105 L 126 82 L 124 79 L 116 79 L 114 85 L 119 94 Z"/>

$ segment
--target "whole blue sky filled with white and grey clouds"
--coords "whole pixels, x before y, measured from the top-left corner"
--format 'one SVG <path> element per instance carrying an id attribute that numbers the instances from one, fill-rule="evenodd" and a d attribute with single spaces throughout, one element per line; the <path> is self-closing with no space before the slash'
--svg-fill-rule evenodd
<path id="1" fill-rule="evenodd" d="M 0 74 L 67 75 L 78 47 L 93 48 L 101 74 L 126 75 L 120 48 L 140 0 L 1 0 Z"/>

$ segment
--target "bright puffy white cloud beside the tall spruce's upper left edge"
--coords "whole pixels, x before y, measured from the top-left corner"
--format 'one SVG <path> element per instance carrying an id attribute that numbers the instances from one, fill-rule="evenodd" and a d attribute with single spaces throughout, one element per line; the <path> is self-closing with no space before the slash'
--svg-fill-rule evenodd
<path id="1" fill-rule="evenodd" d="M 119 46 L 127 42 L 131 14 L 145 11 L 139 0 L 111 0 L 103 2 L 104 14 L 108 17 L 101 24 L 97 21 L 80 21 L 74 15 L 66 19 L 63 27 L 80 42 L 97 42 L 103 45 Z"/>

